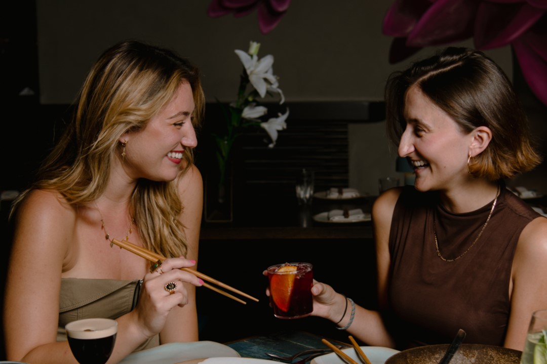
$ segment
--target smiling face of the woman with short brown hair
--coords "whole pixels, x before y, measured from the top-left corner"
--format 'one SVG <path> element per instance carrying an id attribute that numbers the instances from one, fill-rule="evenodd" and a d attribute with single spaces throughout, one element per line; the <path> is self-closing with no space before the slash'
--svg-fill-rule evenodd
<path id="1" fill-rule="evenodd" d="M 446 190 L 467 175 L 471 138 L 444 110 L 411 86 L 405 95 L 406 128 L 399 143 L 399 156 L 407 157 L 416 173 L 420 191 Z"/>

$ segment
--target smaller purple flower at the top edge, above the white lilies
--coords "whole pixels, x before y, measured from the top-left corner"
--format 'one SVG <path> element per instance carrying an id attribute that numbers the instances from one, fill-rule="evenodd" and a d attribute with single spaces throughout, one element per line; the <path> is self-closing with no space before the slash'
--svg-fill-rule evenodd
<path id="1" fill-rule="evenodd" d="M 281 21 L 289 4 L 290 0 L 212 0 L 207 8 L 207 15 L 219 17 L 233 13 L 234 16 L 240 17 L 258 8 L 260 32 L 267 34 Z"/>

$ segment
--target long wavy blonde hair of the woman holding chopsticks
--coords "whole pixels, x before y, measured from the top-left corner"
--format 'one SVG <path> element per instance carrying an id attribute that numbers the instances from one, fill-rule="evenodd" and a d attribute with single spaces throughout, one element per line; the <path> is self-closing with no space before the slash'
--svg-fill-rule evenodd
<path id="1" fill-rule="evenodd" d="M 33 189 L 58 191 L 72 206 L 97 199 L 106 189 L 111 158 L 121 154 L 119 138 L 146 127 L 183 82 L 191 86 L 193 123 L 199 125 L 205 96 L 199 71 L 188 60 L 135 40 L 104 51 L 79 92 L 73 119 L 12 213 Z M 184 153 L 184 159 L 180 173 L 193 163 L 191 153 Z M 137 181 L 130 213 L 146 248 L 167 257 L 186 255 L 184 226 L 178 220 L 182 210 L 176 181 Z"/>

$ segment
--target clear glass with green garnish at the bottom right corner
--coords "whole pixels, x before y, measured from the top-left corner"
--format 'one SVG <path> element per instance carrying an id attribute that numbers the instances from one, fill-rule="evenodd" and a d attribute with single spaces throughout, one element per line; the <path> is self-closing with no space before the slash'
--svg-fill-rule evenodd
<path id="1" fill-rule="evenodd" d="M 532 313 L 521 364 L 547 363 L 547 309 Z"/>

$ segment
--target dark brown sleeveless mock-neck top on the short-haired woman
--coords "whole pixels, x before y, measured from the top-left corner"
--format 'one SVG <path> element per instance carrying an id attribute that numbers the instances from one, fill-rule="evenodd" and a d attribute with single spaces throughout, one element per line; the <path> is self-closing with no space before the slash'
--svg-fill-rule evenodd
<path id="1" fill-rule="evenodd" d="M 441 207 L 437 192 L 406 186 L 389 233 L 391 254 L 386 324 L 400 348 L 450 343 L 459 328 L 466 343 L 503 345 L 509 321 L 509 281 L 523 228 L 541 216 L 502 186 L 496 208 L 473 243 L 492 202 L 473 212 L 453 214 Z"/>

